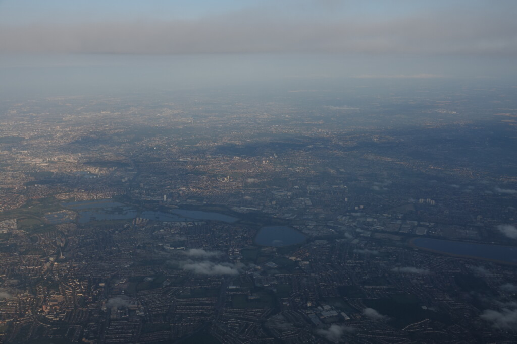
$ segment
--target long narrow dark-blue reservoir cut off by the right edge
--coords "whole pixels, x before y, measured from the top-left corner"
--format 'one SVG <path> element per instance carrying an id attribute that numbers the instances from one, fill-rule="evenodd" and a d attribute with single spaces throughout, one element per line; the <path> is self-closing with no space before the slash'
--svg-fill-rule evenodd
<path id="1" fill-rule="evenodd" d="M 493 259 L 517 264 L 517 247 L 430 238 L 413 239 L 413 244 L 418 248 L 442 253 L 457 254 L 481 259 Z"/>

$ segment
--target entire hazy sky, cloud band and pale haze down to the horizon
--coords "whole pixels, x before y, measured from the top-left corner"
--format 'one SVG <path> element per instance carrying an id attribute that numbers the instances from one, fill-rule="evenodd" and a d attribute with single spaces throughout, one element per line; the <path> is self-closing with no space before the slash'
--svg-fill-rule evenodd
<path id="1" fill-rule="evenodd" d="M 145 83 L 511 79 L 515 13 L 515 0 L 0 0 L 0 92 L 59 73 L 126 82 L 124 68 Z"/>

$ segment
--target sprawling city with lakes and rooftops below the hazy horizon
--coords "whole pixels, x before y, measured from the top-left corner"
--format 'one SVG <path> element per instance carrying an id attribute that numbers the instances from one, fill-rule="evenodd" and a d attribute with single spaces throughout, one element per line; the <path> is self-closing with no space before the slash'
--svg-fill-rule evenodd
<path id="1" fill-rule="evenodd" d="M 0 340 L 513 342 L 517 89 L 408 82 L 3 102 Z"/>

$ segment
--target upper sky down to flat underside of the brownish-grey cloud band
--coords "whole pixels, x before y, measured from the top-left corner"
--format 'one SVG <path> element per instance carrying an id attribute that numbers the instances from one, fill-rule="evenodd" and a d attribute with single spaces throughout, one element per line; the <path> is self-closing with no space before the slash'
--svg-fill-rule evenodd
<path id="1" fill-rule="evenodd" d="M 51 53 L 517 54 L 515 0 L 4 0 L 0 47 Z"/>

